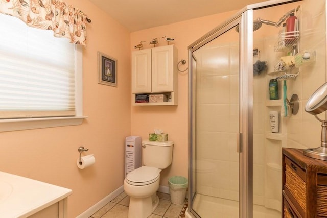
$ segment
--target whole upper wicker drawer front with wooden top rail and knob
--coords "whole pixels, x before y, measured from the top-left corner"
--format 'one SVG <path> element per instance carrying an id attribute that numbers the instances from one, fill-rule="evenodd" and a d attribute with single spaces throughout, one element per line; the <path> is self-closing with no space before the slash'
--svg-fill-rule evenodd
<path id="1" fill-rule="evenodd" d="M 285 158 L 285 188 L 289 190 L 302 210 L 306 211 L 306 172 L 296 163 Z"/>

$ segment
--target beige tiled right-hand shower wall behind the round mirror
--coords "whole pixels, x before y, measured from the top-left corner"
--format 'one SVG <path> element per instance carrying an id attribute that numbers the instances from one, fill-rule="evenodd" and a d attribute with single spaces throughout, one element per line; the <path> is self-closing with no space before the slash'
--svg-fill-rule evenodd
<path id="1" fill-rule="evenodd" d="M 289 117 L 289 148 L 316 148 L 320 146 L 321 123 L 304 108 L 314 91 L 326 82 L 326 5 L 324 0 L 303 2 L 300 22 L 300 52 L 316 54 L 316 61 L 301 67 L 299 76 L 288 82 L 287 95 L 298 94 L 300 109 Z M 325 119 L 325 114 L 318 115 Z"/>

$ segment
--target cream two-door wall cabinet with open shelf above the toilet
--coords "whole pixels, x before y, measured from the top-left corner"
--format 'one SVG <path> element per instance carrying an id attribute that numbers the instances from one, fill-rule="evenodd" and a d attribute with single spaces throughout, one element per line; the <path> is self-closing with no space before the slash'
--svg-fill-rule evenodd
<path id="1" fill-rule="evenodd" d="M 174 45 L 132 52 L 132 105 L 177 105 L 177 90 L 177 49 Z M 137 101 L 138 94 L 148 95 L 147 100 Z M 161 98 L 161 102 L 151 102 L 149 95 L 165 98 Z"/>

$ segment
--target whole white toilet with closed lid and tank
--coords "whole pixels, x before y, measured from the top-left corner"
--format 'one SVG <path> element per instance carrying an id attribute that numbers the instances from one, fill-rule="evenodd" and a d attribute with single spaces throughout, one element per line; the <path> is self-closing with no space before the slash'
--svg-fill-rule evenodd
<path id="1" fill-rule="evenodd" d="M 142 141 L 143 166 L 127 174 L 124 191 L 130 196 L 128 218 L 146 218 L 157 208 L 161 169 L 172 163 L 173 141 Z"/>

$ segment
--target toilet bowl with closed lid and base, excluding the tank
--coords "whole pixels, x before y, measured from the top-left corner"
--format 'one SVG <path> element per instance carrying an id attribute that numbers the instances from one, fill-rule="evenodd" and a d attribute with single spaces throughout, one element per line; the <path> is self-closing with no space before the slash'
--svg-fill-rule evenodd
<path id="1" fill-rule="evenodd" d="M 157 208 L 159 198 L 160 169 L 141 166 L 127 174 L 124 180 L 125 193 L 130 196 L 128 217 L 148 217 Z"/>

